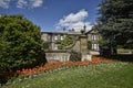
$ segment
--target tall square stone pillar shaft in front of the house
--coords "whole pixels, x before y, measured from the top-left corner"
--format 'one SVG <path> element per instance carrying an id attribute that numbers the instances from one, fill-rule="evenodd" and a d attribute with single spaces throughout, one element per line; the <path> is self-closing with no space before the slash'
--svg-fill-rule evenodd
<path id="1" fill-rule="evenodd" d="M 88 53 L 88 38 L 84 34 L 80 36 L 80 51 L 82 54 Z"/>

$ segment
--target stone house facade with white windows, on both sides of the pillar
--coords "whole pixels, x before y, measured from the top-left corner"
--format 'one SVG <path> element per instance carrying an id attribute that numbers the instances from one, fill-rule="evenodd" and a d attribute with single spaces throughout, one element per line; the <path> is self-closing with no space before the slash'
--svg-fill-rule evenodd
<path id="1" fill-rule="evenodd" d="M 59 44 L 57 44 L 57 41 L 64 40 L 66 35 L 72 35 L 75 37 L 80 37 L 82 33 L 80 32 L 42 32 L 41 40 L 43 42 L 49 43 L 49 51 L 60 51 Z M 99 51 L 99 41 L 102 38 L 99 31 L 96 29 L 92 29 L 89 32 L 85 33 L 88 42 L 91 43 L 91 51 Z"/>

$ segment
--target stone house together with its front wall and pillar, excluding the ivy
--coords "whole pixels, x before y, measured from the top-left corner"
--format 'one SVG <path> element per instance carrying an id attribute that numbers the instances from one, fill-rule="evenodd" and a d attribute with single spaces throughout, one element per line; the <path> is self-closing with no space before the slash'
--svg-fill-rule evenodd
<path id="1" fill-rule="evenodd" d="M 59 44 L 55 42 L 59 40 L 64 40 L 66 35 L 75 36 L 76 40 L 71 45 L 69 50 L 60 50 Z M 95 29 L 90 30 L 89 32 L 82 34 L 81 32 L 74 31 L 63 31 L 63 32 L 42 32 L 41 40 L 43 42 L 48 42 L 49 50 L 45 51 L 47 59 L 48 61 L 61 61 L 66 62 L 69 61 L 70 51 L 81 52 L 82 61 L 88 58 L 89 51 L 99 51 L 99 40 L 101 40 L 101 35 L 99 31 Z M 88 48 L 88 43 L 91 43 L 91 48 Z"/>

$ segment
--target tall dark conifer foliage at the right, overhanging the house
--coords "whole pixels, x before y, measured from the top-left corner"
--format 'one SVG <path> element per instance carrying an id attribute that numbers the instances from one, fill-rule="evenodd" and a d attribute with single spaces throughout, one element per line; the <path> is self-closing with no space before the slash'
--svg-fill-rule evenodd
<path id="1" fill-rule="evenodd" d="M 110 44 L 133 48 L 133 0 L 103 0 L 98 28 Z"/>

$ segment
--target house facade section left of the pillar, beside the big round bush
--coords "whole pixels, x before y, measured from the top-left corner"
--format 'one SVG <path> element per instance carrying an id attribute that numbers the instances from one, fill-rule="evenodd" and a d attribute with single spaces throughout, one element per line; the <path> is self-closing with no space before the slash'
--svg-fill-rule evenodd
<path id="1" fill-rule="evenodd" d="M 41 40 L 49 43 L 49 51 L 63 51 L 60 50 L 60 44 L 57 44 L 57 41 L 62 41 L 66 35 L 79 37 L 80 32 L 42 32 Z"/>

